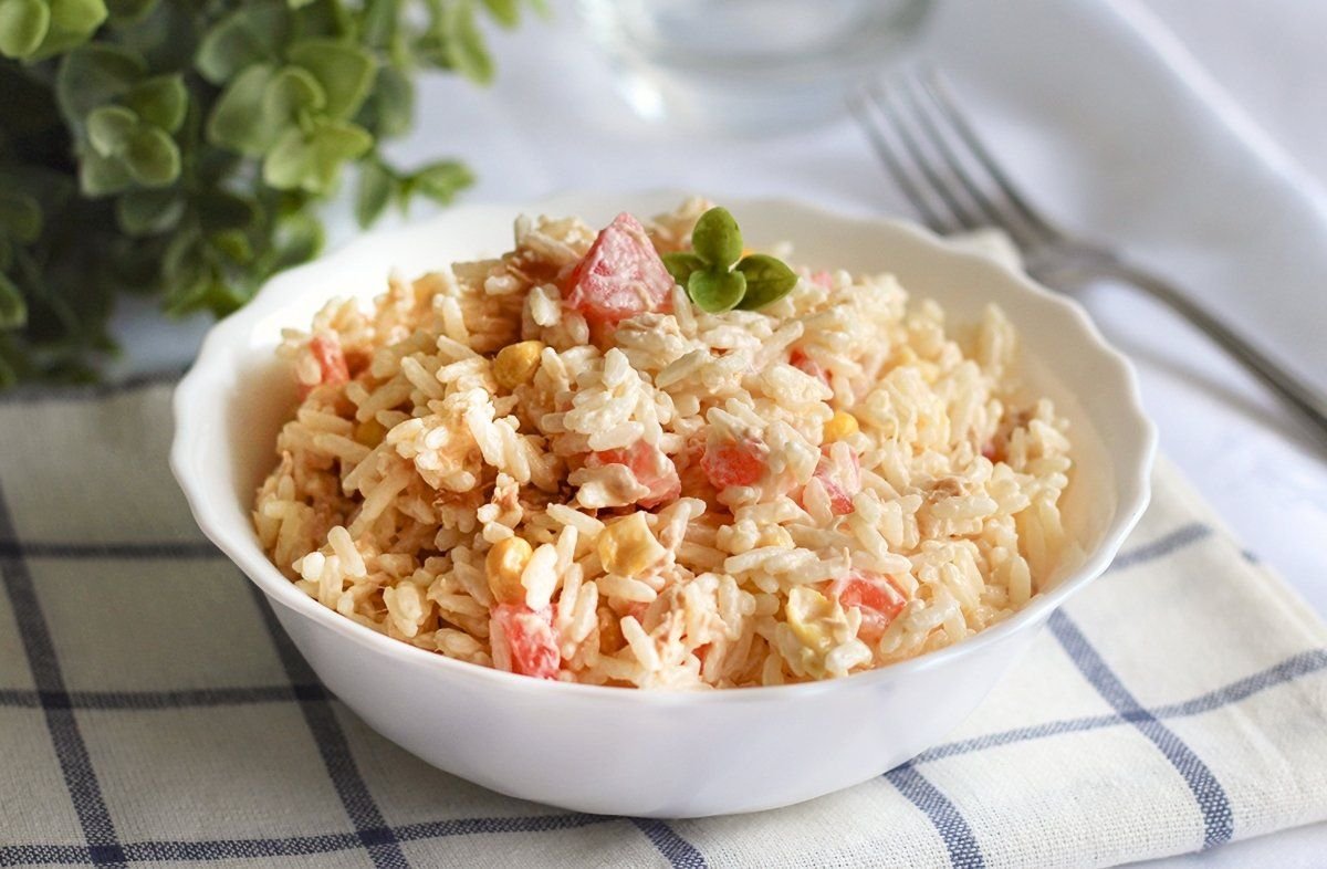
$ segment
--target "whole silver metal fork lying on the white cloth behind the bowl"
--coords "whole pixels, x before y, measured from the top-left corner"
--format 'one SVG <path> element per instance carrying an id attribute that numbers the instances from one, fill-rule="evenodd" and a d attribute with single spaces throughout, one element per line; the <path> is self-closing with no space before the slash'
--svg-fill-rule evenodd
<path id="1" fill-rule="evenodd" d="M 1055 226 L 1018 191 L 930 69 L 873 82 L 849 106 L 881 162 L 922 222 L 942 235 L 995 226 L 1009 234 L 1035 280 L 1071 292 L 1097 280 L 1129 284 L 1164 302 L 1242 362 L 1327 446 L 1323 395 L 1165 279 L 1119 252 Z"/>

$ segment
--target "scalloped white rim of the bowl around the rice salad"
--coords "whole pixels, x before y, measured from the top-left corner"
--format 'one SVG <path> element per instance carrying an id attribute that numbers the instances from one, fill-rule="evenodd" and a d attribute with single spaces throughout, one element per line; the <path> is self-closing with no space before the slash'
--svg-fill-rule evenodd
<path id="1" fill-rule="evenodd" d="M 1038 594 L 1026 606 L 998 625 L 983 629 L 961 642 L 937 649 L 934 651 L 924 653 L 916 658 L 855 673 L 840 679 L 824 679 L 796 685 L 752 686 L 717 691 L 666 691 L 581 685 L 579 682 L 557 682 L 551 679 L 531 679 L 528 677 L 467 663 L 464 661 L 455 661 L 446 655 L 426 651 L 410 643 L 401 642 L 399 639 L 393 639 L 380 634 L 332 609 L 328 609 L 305 593 L 300 592 L 293 582 L 285 578 L 280 570 L 276 569 L 276 567 L 267 559 L 265 553 L 263 553 L 257 545 L 256 539 L 252 536 L 252 528 L 247 529 L 249 532 L 249 536 L 247 537 L 243 533 L 239 533 L 238 529 L 228 528 L 228 520 L 218 515 L 218 507 L 211 501 L 219 496 L 230 498 L 230 492 L 204 491 L 192 482 L 188 472 L 190 458 L 187 455 L 191 444 L 198 436 L 198 415 L 192 413 L 192 409 L 200 403 L 207 403 L 210 398 L 215 397 L 215 390 L 208 390 L 206 386 L 212 383 L 215 378 L 224 377 L 226 371 L 219 366 L 230 361 L 227 353 L 228 348 L 235 344 L 240 344 L 249 334 L 252 326 L 255 326 L 259 321 L 276 314 L 285 308 L 288 305 L 288 300 L 283 299 L 283 289 L 299 287 L 304 283 L 308 275 L 333 268 L 337 263 L 353 261 L 362 256 L 364 252 L 372 251 L 385 239 L 389 239 L 405 230 L 415 231 L 434 223 L 443 224 L 451 220 L 458 220 L 458 214 L 464 214 L 467 210 L 488 211 L 502 208 L 512 216 L 516 214 L 577 214 L 577 206 L 588 200 L 596 200 L 600 203 L 609 200 L 632 203 L 642 199 L 657 200 L 671 198 L 674 202 L 681 202 L 689 195 L 691 194 L 674 190 L 645 190 L 621 194 L 568 191 L 532 202 L 499 202 L 458 206 L 422 222 L 413 222 L 398 227 L 389 227 L 364 234 L 333 252 L 272 277 L 248 305 L 212 326 L 203 341 L 196 361 L 179 382 L 173 397 L 175 436 L 171 444 L 170 455 L 171 470 L 175 479 L 179 482 L 180 488 L 184 491 L 190 509 L 192 511 L 194 517 L 204 535 L 207 535 L 207 537 L 212 540 L 212 543 L 215 543 L 218 548 L 220 548 L 245 573 L 245 576 L 248 576 L 249 580 L 263 590 L 267 597 L 280 602 L 283 606 L 304 616 L 305 618 L 322 622 L 325 626 L 334 630 L 340 637 L 344 637 L 354 643 L 369 646 L 376 651 L 398 657 L 405 662 L 413 661 L 415 663 L 421 663 L 422 666 L 437 667 L 437 673 L 447 678 L 488 681 L 495 689 L 500 690 L 543 691 L 548 693 L 547 697 L 583 695 L 594 697 L 600 701 L 618 698 L 626 703 L 750 703 L 779 698 L 794 699 L 796 697 L 811 697 L 823 691 L 839 690 L 845 685 L 868 687 L 868 683 L 871 682 L 901 678 L 910 673 L 941 666 L 957 658 L 981 654 L 987 645 L 998 642 L 1007 634 L 1035 629 L 1044 617 L 1048 617 L 1050 613 L 1058 609 L 1066 600 L 1068 600 L 1070 596 L 1105 572 L 1124 543 L 1124 539 L 1137 524 L 1151 499 L 1151 468 L 1156 455 L 1157 435 L 1156 427 L 1143 410 L 1137 375 L 1135 374 L 1132 365 L 1119 350 L 1112 348 L 1105 341 L 1100 330 L 1096 328 L 1096 324 L 1093 324 L 1089 318 L 1087 310 L 1064 295 L 1043 288 L 1026 275 L 997 263 L 987 256 L 958 249 L 953 243 L 943 240 L 934 232 L 914 223 L 890 218 L 848 215 L 796 199 L 779 196 L 731 196 L 719 198 L 717 200 L 736 203 L 742 208 L 787 210 L 836 222 L 848 220 L 869 226 L 880 232 L 910 236 L 913 241 L 940 251 L 947 257 L 958 257 L 981 263 L 982 267 L 999 272 L 1005 280 L 1013 281 L 1023 292 L 1039 297 L 1043 304 L 1059 306 L 1072 314 L 1074 321 L 1082 329 L 1083 337 L 1087 340 L 1084 350 L 1091 350 L 1112 364 L 1111 371 L 1117 379 L 1117 382 L 1112 386 L 1116 387 L 1116 393 L 1124 398 L 1123 405 L 1116 409 L 1119 413 L 1125 415 L 1124 422 L 1120 425 L 1120 430 L 1127 431 L 1131 435 L 1127 443 L 1117 447 L 1115 460 L 1117 463 L 1120 460 L 1129 460 L 1133 472 L 1116 472 L 1113 475 L 1115 482 L 1120 486 L 1120 491 L 1117 492 L 1119 500 L 1095 549 L 1087 553 L 1083 563 L 1066 576 L 1054 589 Z M 439 267 L 441 265 L 445 264 L 439 264 Z M 248 508 L 245 507 L 245 515 L 247 511 Z"/>

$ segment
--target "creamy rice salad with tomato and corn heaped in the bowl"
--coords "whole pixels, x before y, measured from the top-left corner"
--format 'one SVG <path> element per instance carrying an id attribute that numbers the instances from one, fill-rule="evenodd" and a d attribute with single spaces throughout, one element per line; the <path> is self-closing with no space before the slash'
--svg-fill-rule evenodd
<path id="1" fill-rule="evenodd" d="M 273 564 L 433 653 L 650 689 L 844 677 L 1024 606 L 1074 548 L 1071 460 L 1010 322 L 805 269 L 706 313 L 661 256 L 707 210 L 522 216 L 499 259 L 287 330 Z"/>

